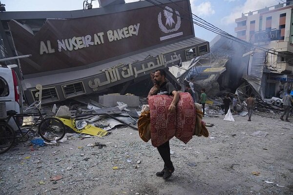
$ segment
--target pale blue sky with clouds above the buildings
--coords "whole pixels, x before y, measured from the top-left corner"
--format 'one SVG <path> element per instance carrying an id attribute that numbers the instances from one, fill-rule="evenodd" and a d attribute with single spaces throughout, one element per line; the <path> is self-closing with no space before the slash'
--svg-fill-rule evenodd
<path id="1" fill-rule="evenodd" d="M 60 11 L 83 9 L 84 0 L 0 0 L 6 11 Z M 90 1 L 90 0 L 88 0 Z M 125 0 L 126 3 L 139 0 Z M 158 0 L 160 1 L 160 0 Z M 196 16 L 235 36 L 235 19 L 242 13 L 276 5 L 286 0 L 190 0 Z M 99 7 L 98 0 L 92 1 Z M 216 34 L 194 24 L 195 37 L 210 41 Z"/>

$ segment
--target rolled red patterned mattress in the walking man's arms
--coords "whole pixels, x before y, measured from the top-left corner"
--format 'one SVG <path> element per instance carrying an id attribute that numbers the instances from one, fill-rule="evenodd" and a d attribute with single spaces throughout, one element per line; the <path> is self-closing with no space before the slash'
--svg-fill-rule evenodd
<path id="1" fill-rule="evenodd" d="M 173 96 L 156 95 L 148 97 L 150 108 L 151 143 L 158 147 L 172 137 L 187 143 L 193 136 L 196 110 L 189 93 L 179 93 L 176 113 L 168 112 Z"/>

